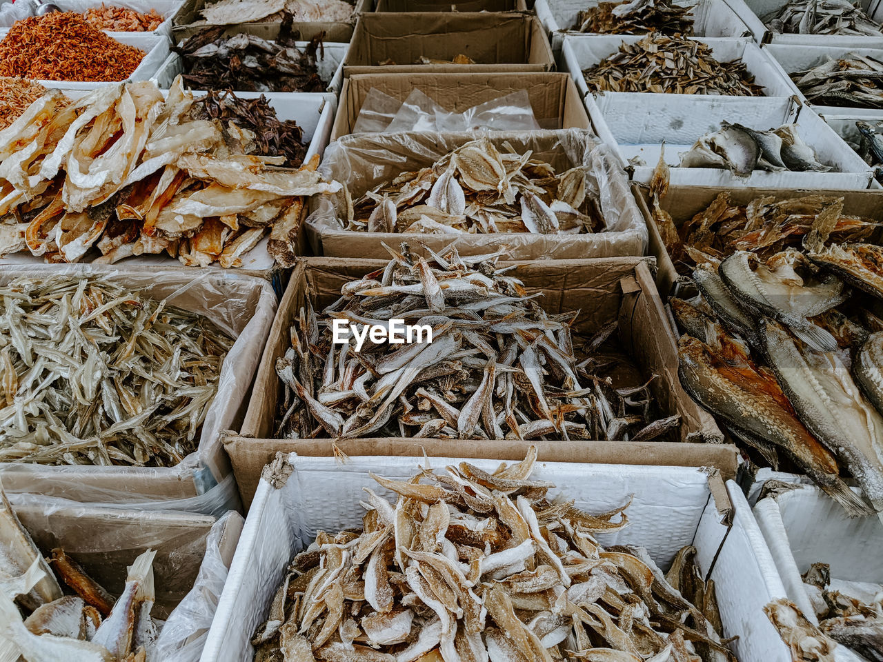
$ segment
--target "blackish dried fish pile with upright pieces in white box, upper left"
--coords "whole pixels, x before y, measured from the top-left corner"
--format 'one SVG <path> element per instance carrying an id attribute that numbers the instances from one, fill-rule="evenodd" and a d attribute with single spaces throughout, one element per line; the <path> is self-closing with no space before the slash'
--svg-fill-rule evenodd
<path id="1" fill-rule="evenodd" d="M 226 26 L 208 27 L 173 50 L 184 60 L 185 83 L 196 89 L 242 92 L 325 92 L 316 53 L 318 35 L 303 52 L 296 46 L 291 14 L 285 14 L 275 41 L 253 34 L 224 37 Z"/>

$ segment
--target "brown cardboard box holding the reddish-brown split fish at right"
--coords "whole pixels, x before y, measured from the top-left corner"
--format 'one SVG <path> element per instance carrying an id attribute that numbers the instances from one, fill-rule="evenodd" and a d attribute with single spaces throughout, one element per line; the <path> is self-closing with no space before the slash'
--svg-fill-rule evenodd
<path id="1" fill-rule="evenodd" d="M 659 228 L 656 227 L 650 213 L 653 206 L 648 190 L 637 185 L 634 185 L 632 190 L 647 220 L 647 228 L 650 233 L 650 253 L 656 258 L 659 266 L 657 284 L 660 293 L 667 298 L 674 284 L 679 279 L 683 281 L 684 277 L 678 275 L 671 257 L 662 244 Z M 660 206 L 668 214 L 671 214 L 675 226 L 680 228 L 683 223 L 690 221 L 693 216 L 705 210 L 721 192 L 721 188 L 717 186 L 672 186 L 668 189 L 665 198 L 661 200 Z M 883 223 L 883 191 L 803 191 L 746 187 L 727 189 L 726 192 L 729 193 L 729 199 L 737 205 L 744 205 L 762 196 L 770 196 L 777 200 L 816 194 L 842 198 L 844 214 L 865 216 Z"/>

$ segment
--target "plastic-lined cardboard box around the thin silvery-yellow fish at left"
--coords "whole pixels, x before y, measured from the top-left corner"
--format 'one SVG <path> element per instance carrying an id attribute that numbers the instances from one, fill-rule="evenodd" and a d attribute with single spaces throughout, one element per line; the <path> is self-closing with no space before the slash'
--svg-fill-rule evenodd
<path id="1" fill-rule="evenodd" d="M 236 338 L 224 360 L 218 391 L 202 425 L 199 447 L 175 467 L 76 465 L 34 467 L 41 479 L 69 480 L 97 489 L 139 497 L 182 499 L 206 492 L 230 471 L 221 441 L 222 430 L 238 426 L 245 415 L 248 393 L 264 349 L 276 309 L 270 284 L 248 275 L 216 270 L 107 265 L 21 265 L 0 270 L 0 284 L 19 277 L 50 278 L 58 275 L 103 276 L 145 296 L 166 299 L 168 305 L 206 315 Z"/>

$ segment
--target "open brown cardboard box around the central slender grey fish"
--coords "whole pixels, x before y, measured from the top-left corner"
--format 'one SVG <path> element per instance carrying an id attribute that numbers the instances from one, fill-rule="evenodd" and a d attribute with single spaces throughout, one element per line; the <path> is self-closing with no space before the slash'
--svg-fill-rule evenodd
<path id="1" fill-rule="evenodd" d="M 546 260 L 511 262 L 515 274 L 528 292 L 542 292 L 542 302 L 550 313 L 580 310 L 574 328 L 580 334 L 592 334 L 603 325 L 619 320 L 623 348 L 642 370 L 656 374 L 651 387 L 660 409 L 683 417 L 682 441 L 722 439 L 713 419 L 683 392 L 677 378 L 675 339 L 656 293 L 647 258 L 602 260 Z M 233 472 L 245 504 L 251 503 L 264 465 L 277 451 L 304 455 L 331 455 L 331 440 L 268 439 L 275 426 L 279 379 L 275 360 L 283 355 L 289 341 L 291 320 L 298 315 L 307 293 L 321 311 L 340 296 L 344 282 L 382 268 L 382 260 L 338 260 L 306 258 L 298 260 L 291 274 L 264 356 L 255 380 L 252 400 L 245 415 L 240 436 L 227 436 L 224 447 L 230 455 Z M 338 442 L 347 455 L 428 455 L 464 457 L 509 457 L 529 444 L 509 440 L 408 440 L 359 439 Z M 734 447 L 703 443 L 612 443 L 608 441 L 537 442 L 541 460 L 598 463 L 652 463 L 711 465 L 735 470 Z M 521 448 L 523 447 L 523 448 Z M 729 476 L 728 476 L 729 477 Z"/>

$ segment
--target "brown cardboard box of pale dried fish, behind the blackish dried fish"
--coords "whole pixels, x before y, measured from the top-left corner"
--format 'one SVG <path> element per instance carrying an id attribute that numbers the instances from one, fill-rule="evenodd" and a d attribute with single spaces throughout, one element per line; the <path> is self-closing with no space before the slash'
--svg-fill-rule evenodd
<path id="1" fill-rule="evenodd" d="M 206 4 L 206 0 L 185 0 L 184 4 L 181 5 L 181 9 L 175 14 L 175 18 L 172 19 L 172 41 L 178 43 L 208 27 L 199 23 L 202 20 L 200 12 Z M 305 41 L 310 41 L 313 37 L 325 33 L 325 36 L 322 38 L 323 41 L 349 43 L 352 39 L 352 27 L 356 25 L 358 14 L 362 11 L 372 11 L 373 8 L 372 0 L 354 0 L 353 4 L 352 18 L 348 21 L 296 21 L 292 24 L 292 29 L 297 30 L 300 33 L 300 38 Z M 224 34 L 244 32 L 272 41 L 278 36 L 280 25 L 280 20 L 240 23 L 230 26 Z"/>

